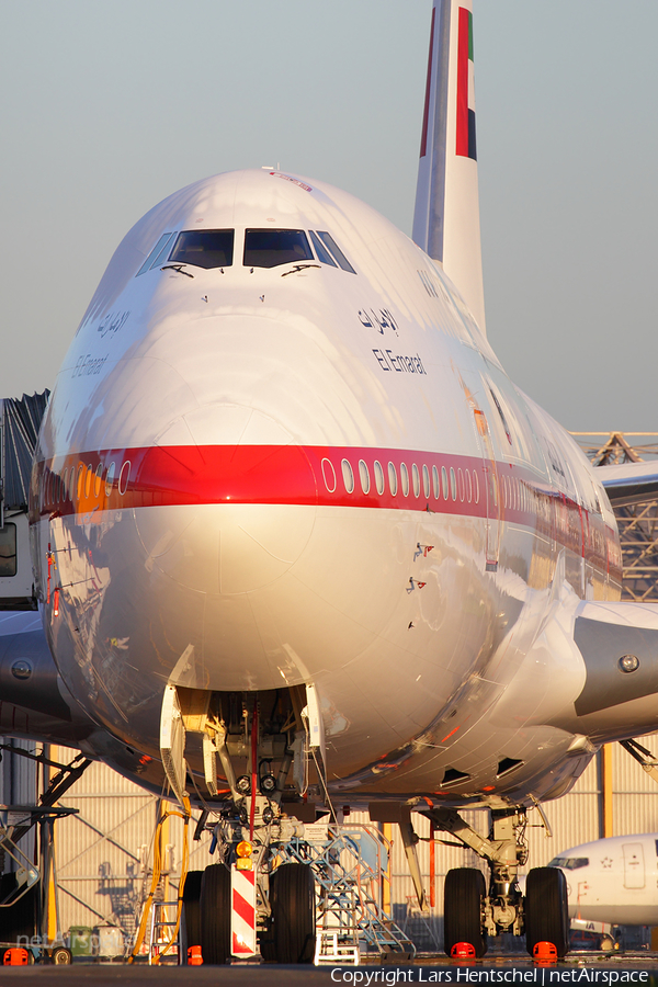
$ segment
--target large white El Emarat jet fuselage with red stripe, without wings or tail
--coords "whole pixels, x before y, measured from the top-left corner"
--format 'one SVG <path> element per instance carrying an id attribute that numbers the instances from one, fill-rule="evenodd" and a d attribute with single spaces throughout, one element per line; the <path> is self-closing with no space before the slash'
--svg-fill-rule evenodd
<path id="1" fill-rule="evenodd" d="M 268 228 L 329 231 L 355 273 L 245 265 Z M 231 264 L 137 273 L 204 229 L 235 230 Z M 440 268 L 331 186 L 222 174 L 133 228 L 59 372 L 31 511 L 60 673 L 147 759 L 182 656 L 198 689 L 315 683 L 354 798 L 548 797 L 591 755 L 564 758 L 582 661 L 531 651 L 558 591 L 619 599 L 602 487 Z"/>

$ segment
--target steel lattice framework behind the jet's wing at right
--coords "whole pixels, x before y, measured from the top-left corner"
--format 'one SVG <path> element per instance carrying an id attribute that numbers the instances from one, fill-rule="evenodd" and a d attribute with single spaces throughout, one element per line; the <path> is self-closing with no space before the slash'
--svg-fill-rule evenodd
<path id="1" fill-rule="evenodd" d="M 571 432 L 595 466 L 658 458 L 658 432 Z M 623 557 L 622 600 L 658 603 L 658 500 L 614 508 Z"/>

